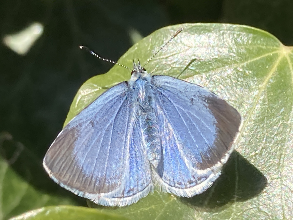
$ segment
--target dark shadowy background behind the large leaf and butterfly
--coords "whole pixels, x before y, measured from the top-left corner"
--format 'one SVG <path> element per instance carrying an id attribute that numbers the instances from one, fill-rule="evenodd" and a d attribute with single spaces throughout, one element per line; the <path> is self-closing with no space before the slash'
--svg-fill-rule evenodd
<path id="1" fill-rule="evenodd" d="M 130 30 L 147 36 L 168 25 L 212 22 L 257 27 L 290 46 L 293 43 L 292 10 L 291 0 L 153 0 L 139 3 L 134 0 L 2 0 L 0 136 L 10 136 L 13 140 L 10 144 L 14 147 L 16 143 L 21 144 L 23 155 L 29 155 L 13 163 L 13 169 L 23 173 L 25 160 L 41 163 L 62 129 L 79 87 L 112 67 L 81 51 L 79 45 L 118 60 L 133 44 Z M 35 21 L 44 25 L 44 33 L 26 55 L 17 55 L 4 46 L 4 35 L 21 31 Z M 7 147 L 9 143 L 2 144 L 1 156 L 13 157 L 15 148 Z M 27 166 L 37 166 L 34 169 L 41 170 L 38 162 Z M 42 189 L 42 181 L 35 186 Z M 55 189 L 59 190 L 52 183 L 52 191 Z"/>

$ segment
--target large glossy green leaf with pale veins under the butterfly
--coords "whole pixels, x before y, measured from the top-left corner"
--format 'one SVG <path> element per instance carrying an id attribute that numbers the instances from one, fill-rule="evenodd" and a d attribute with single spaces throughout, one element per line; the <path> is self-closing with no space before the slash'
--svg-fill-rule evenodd
<path id="1" fill-rule="evenodd" d="M 182 27 L 183 32 L 146 69 L 205 86 L 234 106 L 243 119 L 236 151 L 214 185 L 193 198 L 155 190 L 128 207 L 102 207 L 91 202 L 88 205 L 129 219 L 289 219 L 293 210 L 292 48 L 282 45 L 271 34 L 248 26 L 182 24 L 155 31 L 130 48 L 118 62 L 130 68 L 132 59 L 146 62 Z M 130 71 L 115 65 L 108 73 L 86 81 L 76 94 L 64 125 L 106 88 L 128 79 Z M 2 179 L 8 179 L 6 161 L 0 158 L 4 164 L 0 169 Z M 30 187 L 26 182 L 23 184 Z M 8 184 L 1 189 L 2 194 L 7 189 L 11 189 Z M 19 196 L 16 192 L 21 189 L 15 190 L 14 197 Z M 6 201 L 7 194 L 3 195 Z M 7 213 L 6 210 L 2 212 Z"/>

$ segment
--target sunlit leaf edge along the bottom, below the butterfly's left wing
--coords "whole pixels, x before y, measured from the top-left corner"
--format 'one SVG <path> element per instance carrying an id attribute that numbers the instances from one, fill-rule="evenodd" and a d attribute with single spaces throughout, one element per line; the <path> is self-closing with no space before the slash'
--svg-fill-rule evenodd
<path id="1" fill-rule="evenodd" d="M 76 206 L 49 206 L 41 209 L 28 211 L 22 215 L 16 216 L 11 220 L 126 220 L 123 216 L 115 214 L 101 213 L 97 209 Z"/>

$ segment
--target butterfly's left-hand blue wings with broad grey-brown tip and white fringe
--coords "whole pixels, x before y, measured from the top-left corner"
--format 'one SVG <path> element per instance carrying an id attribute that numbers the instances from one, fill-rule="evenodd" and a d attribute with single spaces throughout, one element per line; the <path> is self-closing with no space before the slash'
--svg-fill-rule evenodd
<path id="1" fill-rule="evenodd" d="M 132 204 L 152 190 L 130 92 L 127 82 L 110 88 L 64 127 L 43 161 L 55 182 L 105 206 Z"/>

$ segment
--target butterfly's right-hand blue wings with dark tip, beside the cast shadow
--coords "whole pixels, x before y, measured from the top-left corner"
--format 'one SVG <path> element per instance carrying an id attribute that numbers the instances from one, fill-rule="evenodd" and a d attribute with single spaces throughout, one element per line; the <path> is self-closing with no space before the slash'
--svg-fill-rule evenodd
<path id="1" fill-rule="evenodd" d="M 156 179 L 161 189 L 192 197 L 219 177 L 233 150 L 241 117 L 226 101 L 198 85 L 155 75 L 163 157 Z"/>

